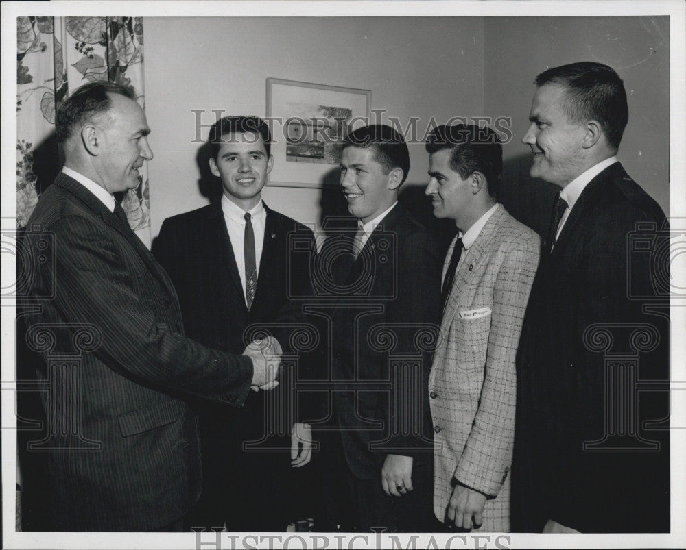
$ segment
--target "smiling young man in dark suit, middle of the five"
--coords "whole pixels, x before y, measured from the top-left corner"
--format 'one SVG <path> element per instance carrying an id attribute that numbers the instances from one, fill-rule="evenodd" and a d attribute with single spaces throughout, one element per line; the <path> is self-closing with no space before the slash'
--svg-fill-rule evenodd
<path id="1" fill-rule="evenodd" d="M 427 375 L 439 315 L 438 253 L 427 229 L 398 203 L 410 169 L 401 134 L 386 125 L 351 132 L 340 168 L 353 218 L 324 242 L 314 272 L 315 286 L 322 282 L 333 298 L 331 429 L 322 436 L 329 528 L 425 531 L 432 516 Z"/>

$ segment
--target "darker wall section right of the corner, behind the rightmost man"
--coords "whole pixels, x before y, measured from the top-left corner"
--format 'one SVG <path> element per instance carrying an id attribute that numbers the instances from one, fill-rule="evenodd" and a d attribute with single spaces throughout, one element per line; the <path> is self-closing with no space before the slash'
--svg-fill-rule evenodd
<path id="1" fill-rule="evenodd" d="M 530 148 L 521 138 L 529 124 L 534 77 L 567 63 L 604 63 L 624 80 L 629 105 L 618 158 L 669 212 L 669 31 L 666 16 L 484 18 L 484 109 L 512 116 L 506 162 L 530 164 Z"/>

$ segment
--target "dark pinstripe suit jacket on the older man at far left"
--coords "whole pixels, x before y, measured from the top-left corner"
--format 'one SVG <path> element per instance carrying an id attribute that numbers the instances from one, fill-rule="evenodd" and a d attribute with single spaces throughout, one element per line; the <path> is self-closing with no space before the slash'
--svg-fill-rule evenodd
<path id="1" fill-rule="evenodd" d="M 167 273 L 67 175 L 43 192 L 28 227 L 27 294 L 40 308 L 27 316 L 27 339 L 49 385 L 54 529 L 176 521 L 201 488 L 198 420 L 179 396 L 242 405 L 252 363 L 182 336 Z"/>

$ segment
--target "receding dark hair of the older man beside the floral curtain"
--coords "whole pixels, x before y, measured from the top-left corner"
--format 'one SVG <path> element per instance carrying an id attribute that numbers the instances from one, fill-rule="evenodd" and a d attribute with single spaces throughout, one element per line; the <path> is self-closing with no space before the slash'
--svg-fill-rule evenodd
<path id="1" fill-rule="evenodd" d="M 112 103 L 110 94 L 136 99 L 136 92 L 130 86 L 99 80 L 89 82 L 74 90 L 60 105 L 55 116 L 55 131 L 58 142 L 71 137 L 75 127 L 81 127 L 97 114 L 104 114 Z"/>

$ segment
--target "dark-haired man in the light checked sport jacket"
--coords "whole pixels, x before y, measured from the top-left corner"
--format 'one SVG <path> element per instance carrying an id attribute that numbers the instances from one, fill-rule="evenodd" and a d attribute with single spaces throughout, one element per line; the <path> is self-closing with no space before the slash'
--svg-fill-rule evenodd
<path id="1" fill-rule="evenodd" d="M 508 531 L 514 357 L 539 237 L 495 199 L 502 146 L 493 131 L 440 126 L 426 149 L 434 215 L 458 227 L 445 259 L 429 375 L 434 514 L 449 527 Z"/>

